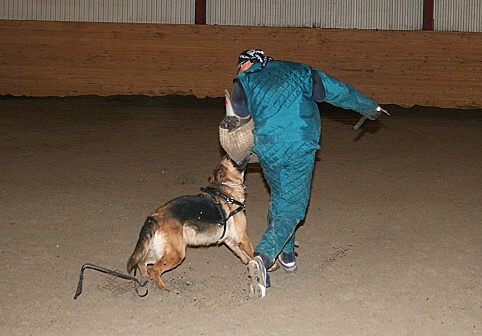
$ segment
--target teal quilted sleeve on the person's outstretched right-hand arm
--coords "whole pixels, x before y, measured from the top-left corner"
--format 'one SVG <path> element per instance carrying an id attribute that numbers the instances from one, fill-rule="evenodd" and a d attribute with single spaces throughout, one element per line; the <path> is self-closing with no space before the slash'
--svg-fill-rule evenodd
<path id="1" fill-rule="evenodd" d="M 353 110 L 366 116 L 370 115 L 378 107 L 374 100 L 355 90 L 352 85 L 340 82 L 323 71 L 316 71 L 321 77 L 327 103 L 346 110 Z"/>

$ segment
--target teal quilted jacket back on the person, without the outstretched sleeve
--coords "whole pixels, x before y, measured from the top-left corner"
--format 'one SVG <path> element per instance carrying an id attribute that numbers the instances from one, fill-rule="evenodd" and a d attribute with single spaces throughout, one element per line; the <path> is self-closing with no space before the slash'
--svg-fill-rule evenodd
<path id="1" fill-rule="evenodd" d="M 311 67 L 271 61 L 262 69 L 255 63 L 236 78 L 248 98 L 256 125 L 255 145 L 320 139 L 321 118 L 312 98 Z"/>

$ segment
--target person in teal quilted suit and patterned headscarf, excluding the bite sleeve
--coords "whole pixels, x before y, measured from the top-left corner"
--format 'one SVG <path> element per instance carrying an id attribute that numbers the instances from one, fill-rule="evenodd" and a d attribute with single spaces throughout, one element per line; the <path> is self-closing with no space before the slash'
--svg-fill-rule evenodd
<path id="1" fill-rule="evenodd" d="M 359 112 L 371 120 L 383 110 L 350 84 L 302 63 L 273 60 L 263 50 L 243 51 L 238 59 L 231 102 L 237 116 L 251 116 L 254 147 L 271 190 L 269 223 L 248 263 L 250 295 L 264 297 L 267 270 L 276 261 L 297 269 L 295 230 L 310 199 L 321 118 L 316 102 Z M 274 268 L 274 267 L 273 267 Z"/>

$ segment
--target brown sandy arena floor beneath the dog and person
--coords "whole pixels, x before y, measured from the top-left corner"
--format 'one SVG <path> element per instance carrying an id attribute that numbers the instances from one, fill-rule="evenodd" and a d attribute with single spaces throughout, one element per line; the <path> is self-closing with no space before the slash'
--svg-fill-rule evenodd
<path id="1" fill-rule="evenodd" d="M 197 194 L 222 155 L 222 99 L 0 97 L 1 335 L 482 333 L 482 111 L 322 106 L 299 269 L 248 299 L 226 247 L 189 249 L 170 291 L 124 272 L 150 211 Z M 249 167 L 253 243 L 269 194 Z"/>

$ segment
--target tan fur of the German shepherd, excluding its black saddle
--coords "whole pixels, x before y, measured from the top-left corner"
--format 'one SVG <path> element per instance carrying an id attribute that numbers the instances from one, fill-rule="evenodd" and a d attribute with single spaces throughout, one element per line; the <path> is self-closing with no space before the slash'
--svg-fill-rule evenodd
<path id="1" fill-rule="evenodd" d="M 241 186 L 244 182 L 244 172 L 239 171 L 229 157 L 216 166 L 209 177 L 209 186 L 244 204 L 245 191 Z M 223 185 L 221 182 L 232 185 Z M 227 214 L 238 208 L 236 204 L 216 198 Z M 181 221 L 172 212 L 172 203 L 167 202 L 154 211 L 144 223 L 137 245 L 127 262 L 127 271 L 138 267 L 142 277 L 150 276 L 161 289 L 166 289 L 161 275 L 178 266 L 186 257 L 187 246 L 209 246 L 226 244 L 243 263 L 253 258 L 253 245 L 249 239 L 246 227 L 246 214 L 240 211 L 232 216 L 226 227 L 222 241 L 223 227 L 216 223 L 205 225 L 200 230 L 189 224 L 189 220 Z M 152 266 L 150 266 L 152 265 Z"/>

